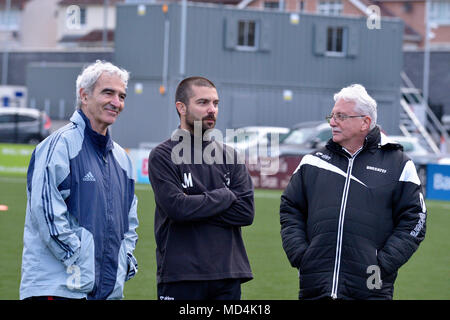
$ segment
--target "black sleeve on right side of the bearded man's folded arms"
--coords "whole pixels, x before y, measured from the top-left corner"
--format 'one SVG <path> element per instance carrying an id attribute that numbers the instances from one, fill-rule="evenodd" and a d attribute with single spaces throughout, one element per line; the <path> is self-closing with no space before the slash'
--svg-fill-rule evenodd
<path id="1" fill-rule="evenodd" d="M 236 201 L 210 223 L 225 227 L 251 225 L 255 216 L 253 182 L 244 164 L 234 166 L 229 189 L 235 194 Z"/>

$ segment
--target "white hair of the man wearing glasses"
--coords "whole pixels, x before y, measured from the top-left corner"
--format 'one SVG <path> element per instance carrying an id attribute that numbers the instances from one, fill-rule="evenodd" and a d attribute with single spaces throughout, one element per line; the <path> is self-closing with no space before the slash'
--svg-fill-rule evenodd
<path id="1" fill-rule="evenodd" d="M 362 85 L 352 84 L 341 89 L 341 91 L 334 94 L 334 101 L 336 102 L 339 99 L 355 102 L 355 111 L 369 116 L 372 119 L 370 130 L 375 128 L 377 125 L 377 102 L 369 96 Z"/>

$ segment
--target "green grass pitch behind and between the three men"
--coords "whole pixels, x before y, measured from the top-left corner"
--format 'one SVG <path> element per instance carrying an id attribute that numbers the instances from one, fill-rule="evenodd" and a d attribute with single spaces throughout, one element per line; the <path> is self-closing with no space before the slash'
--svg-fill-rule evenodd
<path id="1" fill-rule="evenodd" d="M 0 177 L 0 299 L 18 299 L 25 220 L 25 178 Z M 149 185 L 137 185 L 140 227 L 136 257 L 139 272 L 125 286 L 126 299 L 156 298 L 153 237 L 154 200 Z M 281 246 L 281 191 L 256 190 L 253 225 L 243 228 L 254 279 L 243 285 L 243 299 L 295 300 L 297 270 L 290 267 Z M 450 299 L 450 202 L 427 201 L 425 241 L 400 271 L 394 299 Z"/>

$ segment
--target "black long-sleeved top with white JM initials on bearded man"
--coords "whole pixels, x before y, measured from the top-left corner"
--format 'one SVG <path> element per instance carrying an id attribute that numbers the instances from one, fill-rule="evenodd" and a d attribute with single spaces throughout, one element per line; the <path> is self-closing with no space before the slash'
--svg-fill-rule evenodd
<path id="1" fill-rule="evenodd" d="M 186 133 L 180 130 L 175 132 Z M 188 136 L 189 143 L 169 139 L 149 156 L 156 202 L 157 281 L 248 281 L 253 276 L 241 226 L 250 225 L 254 217 L 250 175 L 245 164 L 236 164 L 236 157 L 226 161 L 227 151 L 233 149 L 215 141 L 195 144 L 193 136 Z M 183 152 L 191 153 L 190 159 L 182 158 L 187 162 L 202 163 L 178 163 Z M 215 155 L 215 163 L 206 164 L 202 154 Z"/>

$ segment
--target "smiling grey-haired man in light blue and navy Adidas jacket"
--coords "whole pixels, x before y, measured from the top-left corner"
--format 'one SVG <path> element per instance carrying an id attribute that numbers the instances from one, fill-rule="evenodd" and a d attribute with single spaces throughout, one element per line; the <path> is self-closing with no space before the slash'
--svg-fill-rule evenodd
<path id="1" fill-rule="evenodd" d="M 21 299 L 121 299 L 137 272 L 132 164 L 108 131 L 124 108 L 128 78 L 109 62 L 87 66 L 70 124 L 33 151 Z"/>

